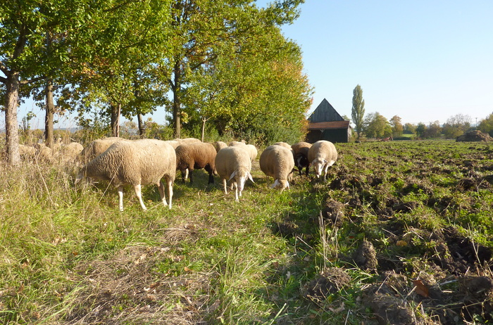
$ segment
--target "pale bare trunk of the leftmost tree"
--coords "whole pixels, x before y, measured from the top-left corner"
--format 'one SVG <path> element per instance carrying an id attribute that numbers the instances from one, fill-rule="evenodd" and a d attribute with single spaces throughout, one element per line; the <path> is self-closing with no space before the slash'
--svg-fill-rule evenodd
<path id="1" fill-rule="evenodd" d="M 5 139 L 7 161 L 13 166 L 20 165 L 19 129 L 17 108 L 19 104 L 19 72 L 10 72 L 6 78 L 5 96 Z"/>

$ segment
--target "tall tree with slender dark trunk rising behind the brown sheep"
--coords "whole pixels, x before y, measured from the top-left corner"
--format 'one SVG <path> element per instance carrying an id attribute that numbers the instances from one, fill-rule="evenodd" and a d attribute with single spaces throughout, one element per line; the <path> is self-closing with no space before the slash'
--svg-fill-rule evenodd
<path id="1" fill-rule="evenodd" d="M 292 23 L 297 18 L 297 6 L 302 0 L 275 1 L 266 9 L 251 0 L 210 1 L 173 0 L 171 5 L 172 33 L 168 56 L 158 68 L 163 84 L 170 87 L 175 136 L 180 137 L 181 119 L 187 88 L 194 84 L 196 70 L 214 63 L 230 50 L 249 52 L 244 42 L 258 39 L 274 25 Z M 223 52 L 230 44 L 226 53 Z M 251 53 L 252 55 L 254 53 Z M 186 110 L 187 108 L 185 108 Z"/>

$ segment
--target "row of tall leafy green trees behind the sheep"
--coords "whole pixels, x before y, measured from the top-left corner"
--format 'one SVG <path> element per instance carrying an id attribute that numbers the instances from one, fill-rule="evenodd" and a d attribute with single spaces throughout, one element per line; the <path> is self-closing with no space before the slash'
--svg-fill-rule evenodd
<path id="1" fill-rule="evenodd" d="M 303 2 L 1 1 L 8 161 L 20 161 L 17 110 L 29 96 L 46 111 L 48 146 L 54 115 L 67 111 L 81 127 L 113 136 L 122 116 L 137 117 L 145 134 L 143 115 L 166 110 L 162 124 L 176 137 L 197 129 L 301 137 L 312 88 L 301 49 L 280 27 Z"/>

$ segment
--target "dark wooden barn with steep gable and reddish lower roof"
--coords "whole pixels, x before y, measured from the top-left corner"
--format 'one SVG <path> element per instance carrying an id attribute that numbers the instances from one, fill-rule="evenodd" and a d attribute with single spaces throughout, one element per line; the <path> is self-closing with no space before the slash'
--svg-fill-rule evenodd
<path id="1" fill-rule="evenodd" d="M 327 140 L 332 143 L 349 142 L 351 133 L 349 121 L 345 121 L 327 99 L 323 98 L 323 101 L 308 117 L 306 142 L 311 144 L 318 140 Z"/>

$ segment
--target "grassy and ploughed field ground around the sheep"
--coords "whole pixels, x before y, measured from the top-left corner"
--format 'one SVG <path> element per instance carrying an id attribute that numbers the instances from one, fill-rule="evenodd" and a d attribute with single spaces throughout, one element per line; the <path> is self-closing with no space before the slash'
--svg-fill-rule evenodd
<path id="1" fill-rule="evenodd" d="M 243 197 L 194 173 L 173 209 L 73 166 L 0 165 L 0 324 L 489 324 L 493 145 L 336 144 L 322 184 Z"/>

